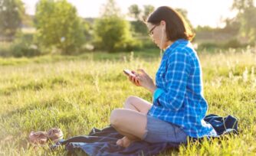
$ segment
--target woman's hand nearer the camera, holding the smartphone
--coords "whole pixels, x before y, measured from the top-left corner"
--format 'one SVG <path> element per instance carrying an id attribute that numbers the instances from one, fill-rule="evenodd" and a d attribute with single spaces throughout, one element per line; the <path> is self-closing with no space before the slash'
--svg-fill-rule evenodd
<path id="1" fill-rule="evenodd" d="M 156 85 L 153 83 L 152 78 L 143 70 L 138 69 L 138 73 L 135 73 L 137 80 L 139 80 L 140 86 L 148 89 L 151 93 L 154 93 Z"/>

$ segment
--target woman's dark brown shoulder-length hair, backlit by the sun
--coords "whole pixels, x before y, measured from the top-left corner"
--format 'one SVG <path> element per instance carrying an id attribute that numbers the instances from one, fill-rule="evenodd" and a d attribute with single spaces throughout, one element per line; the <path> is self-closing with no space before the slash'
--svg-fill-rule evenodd
<path id="1" fill-rule="evenodd" d="M 195 36 L 182 15 L 168 6 L 157 8 L 146 20 L 146 22 L 151 24 L 159 24 L 160 21 L 166 21 L 166 35 L 170 41 L 182 38 L 192 41 L 192 38 Z"/>

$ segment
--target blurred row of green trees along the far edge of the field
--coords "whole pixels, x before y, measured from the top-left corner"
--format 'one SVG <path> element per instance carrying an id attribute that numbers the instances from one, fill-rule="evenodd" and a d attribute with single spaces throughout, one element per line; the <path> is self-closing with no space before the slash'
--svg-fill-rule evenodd
<path id="1" fill-rule="evenodd" d="M 152 47 L 152 44 L 147 44 L 150 42 L 143 21 L 154 9 L 152 5 L 144 5 L 143 8 L 131 5 L 129 16 L 133 21 L 126 21 L 116 2 L 108 0 L 103 6 L 100 18 L 91 23 L 80 18 L 77 9 L 67 0 L 40 0 L 32 22 L 35 33 L 22 34 L 21 26 L 28 19 L 24 4 L 21 0 L 0 0 L 0 38 L 12 43 L 11 52 L 16 57 L 55 52 L 75 54 L 87 48 L 115 52 Z M 242 38 L 248 44 L 254 44 L 254 0 L 234 0 L 232 9 L 237 10 L 238 15 L 226 19 L 223 30 L 235 32 L 238 39 Z M 177 11 L 189 22 L 187 11 L 180 8 Z M 195 31 L 205 30 L 218 31 L 207 27 L 195 28 Z"/>

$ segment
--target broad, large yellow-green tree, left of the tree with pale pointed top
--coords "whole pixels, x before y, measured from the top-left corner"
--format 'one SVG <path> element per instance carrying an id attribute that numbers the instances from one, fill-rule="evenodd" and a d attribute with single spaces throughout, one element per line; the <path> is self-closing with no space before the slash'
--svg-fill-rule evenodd
<path id="1" fill-rule="evenodd" d="M 84 43 L 84 24 L 66 0 L 41 0 L 36 6 L 37 39 L 44 47 L 72 54 Z"/>

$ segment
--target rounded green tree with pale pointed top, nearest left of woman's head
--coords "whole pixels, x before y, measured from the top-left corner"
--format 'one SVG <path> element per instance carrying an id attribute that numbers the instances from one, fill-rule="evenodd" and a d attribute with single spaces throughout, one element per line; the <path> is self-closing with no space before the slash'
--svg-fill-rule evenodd
<path id="1" fill-rule="evenodd" d="M 120 15 L 116 3 L 109 0 L 104 5 L 101 18 L 94 24 L 94 46 L 113 52 L 127 49 L 131 44 L 130 24 Z"/>

